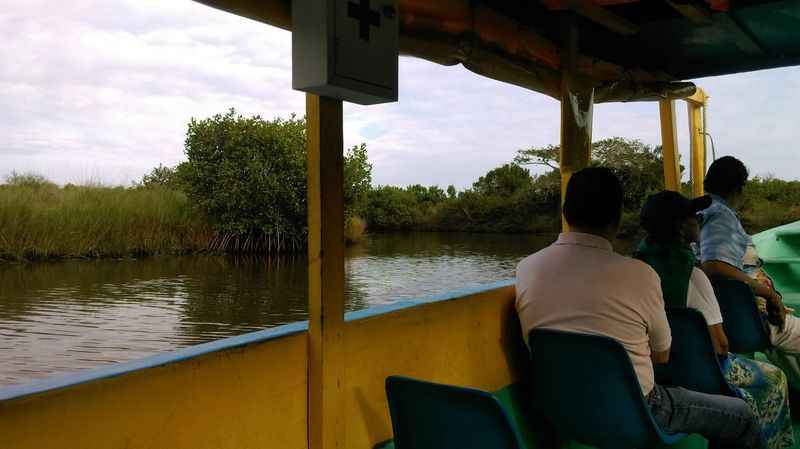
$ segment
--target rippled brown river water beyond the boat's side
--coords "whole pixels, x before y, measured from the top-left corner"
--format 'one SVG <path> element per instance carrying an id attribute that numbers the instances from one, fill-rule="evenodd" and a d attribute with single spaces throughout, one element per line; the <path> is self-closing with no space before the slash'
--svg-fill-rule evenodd
<path id="1" fill-rule="evenodd" d="M 348 311 L 508 279 L 554 236 L 376 234 L 348 249 Z M 304 257 L 0 265 L 0 386 L 307 319 Z"/>

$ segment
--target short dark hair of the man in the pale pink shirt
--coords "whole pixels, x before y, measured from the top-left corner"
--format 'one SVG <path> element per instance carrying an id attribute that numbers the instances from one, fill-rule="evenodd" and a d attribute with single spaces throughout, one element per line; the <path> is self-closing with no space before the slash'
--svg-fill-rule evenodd
<path id="1" fill-rule="evenodd" d="M 567 183 L 564 218 L 570 226 L 604 229 L 622 218 L 622 184 L 606 167 L 576 172 Z"/>

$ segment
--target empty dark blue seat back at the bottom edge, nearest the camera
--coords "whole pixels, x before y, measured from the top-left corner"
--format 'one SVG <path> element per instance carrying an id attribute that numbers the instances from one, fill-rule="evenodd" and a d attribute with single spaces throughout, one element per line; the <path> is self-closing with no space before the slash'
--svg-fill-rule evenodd
<path id="1" fill-rule="evenodd" d="M 522 449 L 500 402 L 485 391 L 386 378 L 397 449 Z"/>

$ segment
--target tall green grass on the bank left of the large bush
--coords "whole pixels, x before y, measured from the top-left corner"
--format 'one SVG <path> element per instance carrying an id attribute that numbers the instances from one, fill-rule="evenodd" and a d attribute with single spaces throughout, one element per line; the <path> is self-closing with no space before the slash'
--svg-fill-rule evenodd
<path id="1" fill-rule="evenodd" d="M 208 248 L 211 228 L 162 188 L 59 187 L 12 174 L 0 185 L 0 258 L 124 257 Z"/>

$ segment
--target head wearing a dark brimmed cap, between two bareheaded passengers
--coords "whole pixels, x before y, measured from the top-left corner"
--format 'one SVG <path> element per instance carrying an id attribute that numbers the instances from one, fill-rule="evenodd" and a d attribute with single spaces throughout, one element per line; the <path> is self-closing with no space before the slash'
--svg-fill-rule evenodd
<path id="1" fill-rule="evenodd" d="M 678 192 L 665 190 L 647 198 L 640 221 L 647 238 L 654 242 L 688 244 L 699 238 L 697 213 L 709 206 L 710 196 L 690 200 Z"/>

